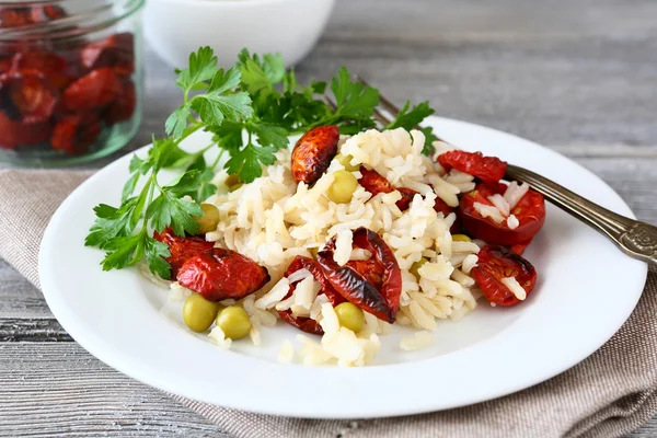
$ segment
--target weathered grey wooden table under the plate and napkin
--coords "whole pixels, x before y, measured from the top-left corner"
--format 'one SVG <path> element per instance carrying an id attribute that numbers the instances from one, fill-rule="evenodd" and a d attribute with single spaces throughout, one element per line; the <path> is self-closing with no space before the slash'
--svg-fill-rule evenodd
<path id="1" fill-rule="evenodd" d="M 397 103 L 528 137 L 575 159 L 657 222 L 655 0 L 339 0 L 301 80 L 341 65 Z M 145 117 L 180 104 L 147 49 Z M 118 155 L 94 162 L 101 166 Z M 222 436 L 77 345 L 42 293 L 0 262 L 0 436 Z M 657 436 L 657 418 L 629 437 Z"/>

